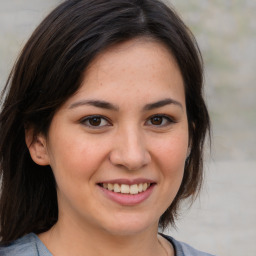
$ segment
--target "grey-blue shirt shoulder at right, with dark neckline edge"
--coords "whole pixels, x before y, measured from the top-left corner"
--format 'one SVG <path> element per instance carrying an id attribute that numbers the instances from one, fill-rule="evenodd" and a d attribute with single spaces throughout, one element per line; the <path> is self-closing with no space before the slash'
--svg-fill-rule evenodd
<path id="1" fill-rule="evenodd" d="M 186 243 L 175 240 L 171 236 L 161 235 L 173 245 L 176 256 L 214 256 L 206 252 L 198 251 Z"/>

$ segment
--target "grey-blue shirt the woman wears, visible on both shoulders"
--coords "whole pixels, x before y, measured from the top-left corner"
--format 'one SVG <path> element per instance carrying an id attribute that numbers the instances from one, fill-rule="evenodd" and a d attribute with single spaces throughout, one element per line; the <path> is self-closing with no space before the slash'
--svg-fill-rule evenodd
<path id="1" fill-rule="evenodd" d="M 198 251 L 170 236 L 162 236 L 173 245 L 175 256 L 213 256 L 211 254 Z M 12 242 L 8 246 L 0 246 L 0 256 L 52 256 L 52 254 L 36 234 L 30 233 Z"/>

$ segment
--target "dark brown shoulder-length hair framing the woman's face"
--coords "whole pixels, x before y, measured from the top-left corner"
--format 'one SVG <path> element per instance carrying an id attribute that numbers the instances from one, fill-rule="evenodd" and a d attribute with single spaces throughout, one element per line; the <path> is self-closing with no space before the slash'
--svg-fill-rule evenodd
<path id="1" fill-rule="evenodd" d="M 67 0 L 34 31 L 2 93 L 2 242 L 44 232 L 58 219 L 52 170 L 32 161 L 24 127 L 33 125 L 35 133 L 46 135 L 55 112 L 78 90 L 97 54 L 138 37 L 153 38 L 171 51 L 185 86 L 191 153 L 178 194 L 159 226 L 174 224 L 181 199 L 197 194 L 210 122 L 202 97 L 202 59 L 192 33 L 173 9 L 158 0 Z"/>

